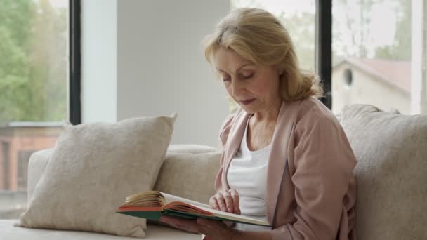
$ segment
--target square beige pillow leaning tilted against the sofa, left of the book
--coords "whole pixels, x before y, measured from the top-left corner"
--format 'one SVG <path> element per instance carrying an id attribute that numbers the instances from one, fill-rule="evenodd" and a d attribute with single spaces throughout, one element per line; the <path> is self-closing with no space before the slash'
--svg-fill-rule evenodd
<path id="1" fill-rule="evenodd" d="M 146 220 L 115 213 L 152 189 L 175 117 L 65 126 L 18 225 L 145 236 Z"/>

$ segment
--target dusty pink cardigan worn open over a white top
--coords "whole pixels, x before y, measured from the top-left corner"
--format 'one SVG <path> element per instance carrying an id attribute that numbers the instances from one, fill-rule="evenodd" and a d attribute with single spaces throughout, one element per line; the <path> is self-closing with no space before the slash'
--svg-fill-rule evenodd
<path id="1" fill-rule="evenodd" d="M 221 128 L 216 191 L 230 189 L 228 167 L 249 116 L 239 109 Z M 355 164 L 343 128 L 322 102 L 282 102 L 265 186 L 272 239 L 355 240 Z"/>

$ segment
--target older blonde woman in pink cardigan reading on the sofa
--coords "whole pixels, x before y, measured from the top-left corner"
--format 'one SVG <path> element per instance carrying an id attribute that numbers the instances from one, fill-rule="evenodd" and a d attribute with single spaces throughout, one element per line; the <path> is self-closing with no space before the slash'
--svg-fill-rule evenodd
<path id="1" fill-rule="evenodd" d="M 334 114 L 317 100 L 319 81 L 299 69 L 284 26 L 266 11 L 240 8 L 204 43 L 240 106 L 221 128 L 221 168 L 209 204 L 272 227 L 162 221 L 205 239 L 355 239 L 355 156 Z"/>

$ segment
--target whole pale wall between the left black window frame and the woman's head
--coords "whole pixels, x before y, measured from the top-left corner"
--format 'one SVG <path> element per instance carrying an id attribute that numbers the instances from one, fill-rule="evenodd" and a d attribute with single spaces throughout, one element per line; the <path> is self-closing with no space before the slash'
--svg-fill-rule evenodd
<path id="1" fill-rule="evenodd" d="M 176 112 L 172 143 L 216 146 L 228 104 L 201 41 L 229 13 L 230 1 L 82 3 L 83 121 Z"/>

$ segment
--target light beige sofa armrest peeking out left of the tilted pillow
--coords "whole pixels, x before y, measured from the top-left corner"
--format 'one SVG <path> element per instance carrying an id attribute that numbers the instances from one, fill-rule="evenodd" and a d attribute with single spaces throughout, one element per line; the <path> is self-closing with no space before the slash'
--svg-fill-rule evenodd
<path id="1" fill-rule="evenodd" d="M 28 181 L 27 181 L 27 200 L 28 202 L 32 199 L 32 194 L 36 188 L 37 182 L 39 182 L 41 175 L 44 173 L 49 159 L 53 154 L 53 148 L 43 149 L 34 152 L 29 157 L 28 163 Z"/>

